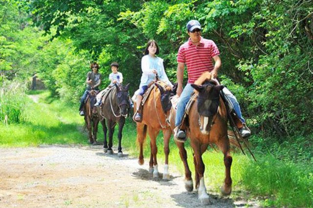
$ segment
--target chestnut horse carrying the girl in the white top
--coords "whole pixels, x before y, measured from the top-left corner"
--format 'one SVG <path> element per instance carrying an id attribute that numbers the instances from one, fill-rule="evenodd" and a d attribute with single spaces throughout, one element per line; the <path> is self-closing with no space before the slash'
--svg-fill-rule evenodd
<path id="1" fill-rule="evenodd" d="M 169 85 L 157 81 L 151 91 L 147 101 L 142 109 L 142 121 L 137 122 L 137 143 L 140 147 L 138 163 L 143 165 L 143 143 L 146 140 L 147 130 L 150 136 L 150 161 L 149 172 L 153 173 L 153 177 L 158 177 L 157 161 L 156 161 L 156 136 L 160 131 L 163 132 L 164 137 L 164 154 L 165 165 L 163 172 L 163 179 L 169 179 L 168 172 L 168 155 L 170 153 L 169 141 L 172 135 L 171 128 L 167 122 L 169 111 L 171 109 L 170 97 L 173 95 L 173 90 Z M 136 109 L 134 103 L 134 110 Z"/>

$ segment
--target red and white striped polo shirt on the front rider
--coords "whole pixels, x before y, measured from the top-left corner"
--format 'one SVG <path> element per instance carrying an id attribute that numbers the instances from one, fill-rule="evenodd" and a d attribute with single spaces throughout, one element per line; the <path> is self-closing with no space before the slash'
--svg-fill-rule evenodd
<path id="1" fill-rule="evenodd" d="M 187 66 L 188 83 L 194 83 L 203 72 L 211 72 L 214 68 L 212 57 L 220 55 L 213 40 L 201 37 L 200 44 L 195 46 L 189 38 L 179 47 L 177 62 Z"/>

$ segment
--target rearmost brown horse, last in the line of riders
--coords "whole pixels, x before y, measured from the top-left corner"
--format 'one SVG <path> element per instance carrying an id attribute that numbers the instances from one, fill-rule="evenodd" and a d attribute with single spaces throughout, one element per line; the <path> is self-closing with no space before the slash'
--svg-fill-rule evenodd
<path id="1" fill-rule="evenodd" d="M 89 133 L 89 143 L 96 145 L 97 144 L 97 132 L 99 124 L 99 116 L 96 111 L 94 104 L 96 103 L 96 95 L 98 91 L 91 90 L 87 92 L 88 97 L 84 106 L 84 118 L 86 126 Z"/>

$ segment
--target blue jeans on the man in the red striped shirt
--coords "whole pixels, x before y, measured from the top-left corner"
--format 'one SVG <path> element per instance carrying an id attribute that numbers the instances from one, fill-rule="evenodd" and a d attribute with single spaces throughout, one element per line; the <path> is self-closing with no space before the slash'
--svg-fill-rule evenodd
<path id="1" fill-rule="evenodd" d="M 182 116 L 185 112 L 185 108 L 186 105 L 189 101 L 190 95 L 192 94 L 192 92 L 194 91 L 194 88 L 191 87 L 191 84 L 187 84 L 184 89 L 182 90 L 181 95 L 179 96 L 179 101 L 177 103 L 177 111 L 176 111 L 176 117 L 175 117 L 175 126 L 179 126 Z M 241 114 L 241 109 L 239 106 L 239 103 L 236 99 L 236 97 L 227 89 L 227 88 L 223 88 L 223 92 L 224 94 L 229 98 L 229 100 L 231 101 L 231 103 L 234 106 L 234 111 L 237 114 L 237 116 L 239 117 L 239 119 L 243 122 L 246 123 L 245 119 L 242 117 Z"/>

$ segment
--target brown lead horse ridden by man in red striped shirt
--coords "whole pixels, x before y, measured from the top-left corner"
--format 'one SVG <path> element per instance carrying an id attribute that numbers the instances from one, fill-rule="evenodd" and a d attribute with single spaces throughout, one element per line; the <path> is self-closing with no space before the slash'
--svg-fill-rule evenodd
<path id="1" fill-rule="evenodd" d="M 190 107 L 188 117 L 186 118 L 189 124 L 186 132 L 194 152 L 195 182 L 196 189 L 198 189 L 198 197 L 202 204 L 207 205 L 210 203 L 210 199 L 204 185 L 202 154 L 207 150 L 208 145 L 216 144 L 224 153 L 225 180 L 221 191 L 224 195 L 231 193 L 230 167 L 232 157 L 229 153 L 229 139 L 227 136 L 227 112 L 220 96 L 223 86 L 217 85 L 213 80 L 207 80 L 202 85 L 192 84 L 192 87 L 198 92 L 198 97 Z M 171 128 L 174 129 L 175 111 L 172 110 L 171 112 Z M 185 167 L 185 187 L 188 191 L 192 191 L 193 182 L 184 144 L 180 142 L 176 142 L 176 144 Z"/>

